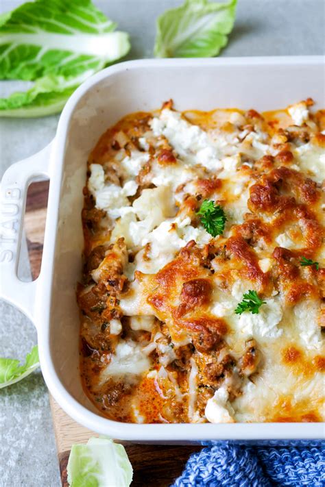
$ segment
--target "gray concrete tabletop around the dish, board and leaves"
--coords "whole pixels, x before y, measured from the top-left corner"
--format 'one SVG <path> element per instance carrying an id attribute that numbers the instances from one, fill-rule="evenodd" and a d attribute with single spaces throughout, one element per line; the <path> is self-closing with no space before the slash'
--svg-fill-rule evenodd
<path id="1" fill-rule="evenodd" d="M 0 12 L 22 3 L 0 0 Z M 177 0 L 95 0 L 128 31 L 129 58 L 150 58 L 154 19 Z M 323 0 L 239 0 L 237 21 L 222 55 L 312 55 L 324 53 Z M 240 82 L 240 80 L 239 80 Z M 0 84 L 1 93 L 16 88 Z M 1 95 L 0 95 L 1 96 Z M 3 96 L 3 95 L 2 95 Z M 58 116 L 0 120 L 0 176 L 10 164 L 42 149 L 56 132 Z M 30 277 L 26 251 L 21 275 Z M 0 356 L 23 359 L 36 332 L 18 310 L 0 302 Z M 41 373 L 0 390 L 0 486 L 59 487 L 47 388 Z"/>

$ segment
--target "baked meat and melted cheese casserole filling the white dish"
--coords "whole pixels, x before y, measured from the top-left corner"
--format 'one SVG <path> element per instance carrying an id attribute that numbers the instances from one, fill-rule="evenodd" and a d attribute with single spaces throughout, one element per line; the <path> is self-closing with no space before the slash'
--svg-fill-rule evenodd
<path id="1" fill-rule="evenodd" d="M 108 417 L 324 418 L 325 117 L 311 105 L 263 116 L 167 102 L 99 140 L 78 301 L 84 387 Z M 226 214 L 215 238 L 204 199 Z M 248 290 L 263 304 L 237 314 Z"/>

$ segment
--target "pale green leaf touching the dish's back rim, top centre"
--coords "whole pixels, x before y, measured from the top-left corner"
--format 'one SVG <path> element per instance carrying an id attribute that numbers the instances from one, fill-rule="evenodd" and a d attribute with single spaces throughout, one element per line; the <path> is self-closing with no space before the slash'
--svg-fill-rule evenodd
<path id="1" fill-rule="evenodd" d="M 215 3 L 185 0 L 157 19 L 157 58 L 209 58 L 226 46 L 234 25 L 237 0 Z"/>

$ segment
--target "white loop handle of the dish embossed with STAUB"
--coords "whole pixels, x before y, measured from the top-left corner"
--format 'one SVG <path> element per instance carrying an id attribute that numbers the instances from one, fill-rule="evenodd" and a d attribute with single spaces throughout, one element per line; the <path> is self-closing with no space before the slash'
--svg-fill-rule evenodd
<path id="1" fill-rule="evenodd" d="M 17 275 L 27 190 L 33 179 L 49 177 L 52 142 L 30 158 L 12 164 L 1 181 L 0 199 L 0 297 L 16 305 L 31 321 L 34 316 L 36 283 Z"/>

